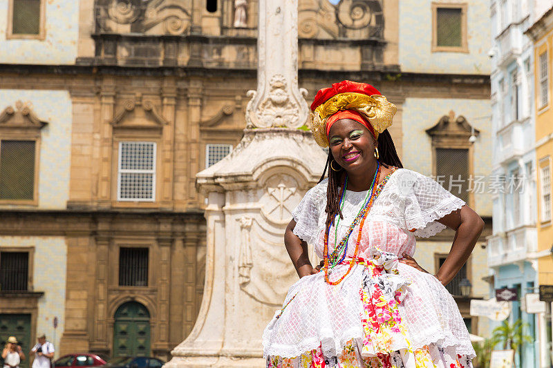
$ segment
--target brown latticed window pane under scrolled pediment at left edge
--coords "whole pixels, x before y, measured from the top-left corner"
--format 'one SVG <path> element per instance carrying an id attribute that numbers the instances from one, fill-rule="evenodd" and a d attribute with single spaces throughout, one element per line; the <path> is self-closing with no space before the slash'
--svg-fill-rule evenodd
<path id="1" fill-rule="evenodd" d="M 35 141 L 0 141 L 0 200 L 35 197 Z"/>

